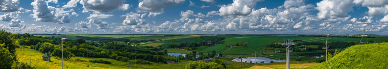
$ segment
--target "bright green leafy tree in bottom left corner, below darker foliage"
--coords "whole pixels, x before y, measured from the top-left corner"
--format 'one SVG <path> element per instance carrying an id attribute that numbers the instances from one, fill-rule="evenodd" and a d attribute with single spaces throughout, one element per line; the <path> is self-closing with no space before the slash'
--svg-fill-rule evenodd
<path id="1" fill-rule="evenodd" d="M 5 47 L 4 43 L 0 44 L 0 69 L 11 69 L 13 58 L 11 52 L 8 51 L 8 47 Z"/>

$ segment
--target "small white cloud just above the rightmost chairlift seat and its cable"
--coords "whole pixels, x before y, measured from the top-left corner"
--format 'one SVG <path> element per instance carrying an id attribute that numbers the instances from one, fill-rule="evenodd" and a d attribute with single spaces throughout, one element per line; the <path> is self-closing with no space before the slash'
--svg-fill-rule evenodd
<path id="1" fill-rule="evenodd" d="M 369 24 L 369 23 L 373 22 L 372 18 L 373 17 L 364 16 L 364 17 L 359 18 L 359 19 L 353 18 L 349 22 L 352 24 Z"/>

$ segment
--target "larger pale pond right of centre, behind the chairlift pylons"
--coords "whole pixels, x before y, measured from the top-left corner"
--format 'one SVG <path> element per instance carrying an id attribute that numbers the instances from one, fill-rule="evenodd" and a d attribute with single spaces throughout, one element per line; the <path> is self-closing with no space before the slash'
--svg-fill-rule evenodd
<path id="1" fill-rule="evenodd" d="M 241 62 L 241 59 L 233 59 L 232 61 L 235 61 L 235 62 Z M 255 63 L 255 61 L 257 61 L 257 63 L 260 63 L 262 61 L 264 61 L 264 63 L 269 63 L 271 61 L 274 61 L 274 62 L 286 62 L 285 60 L 279 60 L 279 59 L 270 59 L 270 58 L 267 58 L 267 57 L 245 57 L 245 58 L 242 58 L 242 62 L 251 62 L 252 63 Z"/>

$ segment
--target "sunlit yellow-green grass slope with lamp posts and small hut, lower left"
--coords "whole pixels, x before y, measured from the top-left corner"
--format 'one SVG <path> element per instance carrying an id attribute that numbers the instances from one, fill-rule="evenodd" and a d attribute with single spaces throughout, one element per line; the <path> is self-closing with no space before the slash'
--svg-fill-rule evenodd
<path id="1" fill-rule="evenodd" d="M 29 64 L 30 62 L 30 50 L 31 49 L 16 49 L 17 54 L 17 60 L 19 62 L 25 62 Z M 55 59 L 59 57 L 52 57 L 51 62 L 43 61 L 42 56 L 43 54 L 37 50 L 32 50 L 32 65 L 35 66 L 37 69 L 61 69 L 62 68 L 62 60 L 61 59 Z M 96 59 L 102 59 L 104 61 L 110 61 L 112 64 L 102 64 L 102 63 L 92 63 L 88 62 L 89 67 L 87 67 L 86 63 L 84 62 L 87 60 L 86 57 L 72 57 L 68 60 L 76 60 L 80 59 L 83 61 L 67 61 L 65 60 L 63 63 L 64 69 L 128 69 L 128 62 L 121 62 L 116 61 L 114 59 L 107 59 L 107 58 L 89 58 L 89 60 L 96 60 Z M 131 59 L 130 68 L 129 69 L 135 69 L 135 64 L 133 63 Z M 139 61 L 139 60 L 137 60 Z M 183 69 L 185 67 L 185 64 L 182 62 L 178 62 L 177 65 L 175 64 L 167 64 L 168 67 L 165 66 L 164 63 L 156 63 L 151 62 L 151 64 L 137 64 L 137 67 L 139 69 Z"/>

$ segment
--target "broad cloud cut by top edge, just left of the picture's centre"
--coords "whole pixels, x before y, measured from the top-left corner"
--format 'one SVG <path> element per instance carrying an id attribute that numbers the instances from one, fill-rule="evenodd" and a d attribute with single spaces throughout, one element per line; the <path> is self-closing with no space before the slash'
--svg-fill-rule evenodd
<path id="1" fill-rule="evenodd" d="M 163 9 L 180 5 L 185 0 L 139 0 L 139 7 L 136 8 L 137 12 L 164 12 Z"/>

